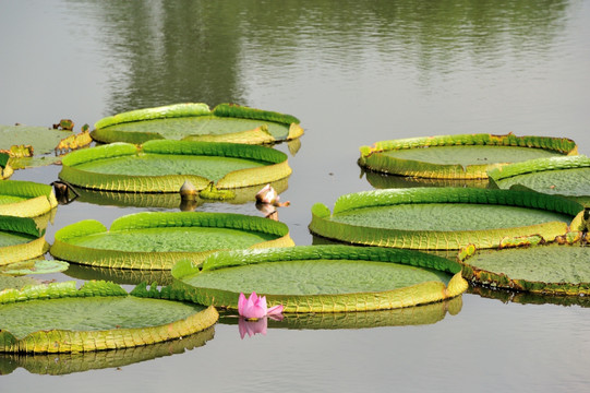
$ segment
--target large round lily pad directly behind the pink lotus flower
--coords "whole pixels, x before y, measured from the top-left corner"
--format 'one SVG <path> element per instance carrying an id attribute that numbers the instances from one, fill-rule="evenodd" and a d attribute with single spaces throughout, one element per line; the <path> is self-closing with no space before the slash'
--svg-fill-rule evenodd
<path id="1" fill-rule="evenodd" d="M 460 295 L 467 282 L 457 262 L 411 250 L 300 246 L 209 255 L 172 270 L 202 305 L 238 308 L 240 293 L 266 296 L 284 312 L 385 310 Z"/>

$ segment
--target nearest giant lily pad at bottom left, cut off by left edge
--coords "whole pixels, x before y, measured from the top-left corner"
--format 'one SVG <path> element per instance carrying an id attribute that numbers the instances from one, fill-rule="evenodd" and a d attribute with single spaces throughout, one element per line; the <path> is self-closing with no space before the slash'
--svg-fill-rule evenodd
<path id="1" fill-rule="evenodd" d="M 74 282 L 0 293 L 0 352 L 80 353 L 179 338 L 212 326 L 214 308 L 130 296 L 117 284 Z"/>

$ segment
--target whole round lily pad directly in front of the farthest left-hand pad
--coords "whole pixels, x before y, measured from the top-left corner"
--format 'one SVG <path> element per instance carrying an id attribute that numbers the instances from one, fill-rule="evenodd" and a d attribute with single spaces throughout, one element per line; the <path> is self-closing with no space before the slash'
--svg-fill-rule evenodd
<path id="1" fill-rule="evenodd" d="M 270 147 L 238 143 L 149 141 L 77 151 L 67 155 L 60 178 L 107 191 L 178 192 L 184 181 L 197 190 L 263 184 L 287 178 L 287 155 Z"/>

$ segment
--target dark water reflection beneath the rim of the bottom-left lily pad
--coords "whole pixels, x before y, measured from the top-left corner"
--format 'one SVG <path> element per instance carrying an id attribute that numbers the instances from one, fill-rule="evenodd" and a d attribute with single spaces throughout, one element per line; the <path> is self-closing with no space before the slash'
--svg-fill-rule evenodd
<path id="1" fill-rule="evenodd" d="M 141 361 L 182 354 L 205 345 L 215 335 L 214 327 L 166 343 L 131 348 L 63 354 L 1 354 L 0 374 L 9 374 L 22 367 L 31 373 L 64 376 L 74 372 L 120 368 Z"/>

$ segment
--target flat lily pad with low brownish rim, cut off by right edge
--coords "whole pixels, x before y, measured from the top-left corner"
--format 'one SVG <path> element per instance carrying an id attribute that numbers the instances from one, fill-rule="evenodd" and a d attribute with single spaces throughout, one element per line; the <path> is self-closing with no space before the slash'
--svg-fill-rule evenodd
<path id="1" fill-rule="evenodd" d="M 590 294 L 590 247 L 543 245 L 478 250 L 462 259 L 466 278 L 499 288 L 540 294 Z"/>

